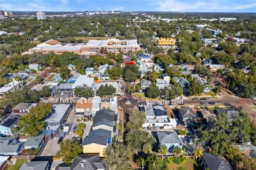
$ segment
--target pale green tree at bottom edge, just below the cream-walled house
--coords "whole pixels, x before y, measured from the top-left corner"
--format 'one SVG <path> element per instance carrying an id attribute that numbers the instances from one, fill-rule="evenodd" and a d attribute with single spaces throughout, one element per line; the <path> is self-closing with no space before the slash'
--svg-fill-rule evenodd
<path id="1" fill-rule="evenodd" d="M 132 152 L 123 143 L 109 145 L 105 152 L 104 162 L 107 169 L 126 170 L 132 169 Z"/>

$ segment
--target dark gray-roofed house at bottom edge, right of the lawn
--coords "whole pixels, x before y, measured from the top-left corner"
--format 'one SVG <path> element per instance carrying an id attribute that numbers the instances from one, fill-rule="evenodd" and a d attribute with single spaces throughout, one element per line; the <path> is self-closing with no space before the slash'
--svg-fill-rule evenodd
<path id="1" fill-rule="evenodd" d="M 204 169 L 209 168 L 209 170 L 232 170 L 233 168 L 229 164 L 229 162 L 220 157 L 215 156 L 210 153 L 203 152 L 203 156 L 199 158 L 201 161 L 201 166 Z"/>

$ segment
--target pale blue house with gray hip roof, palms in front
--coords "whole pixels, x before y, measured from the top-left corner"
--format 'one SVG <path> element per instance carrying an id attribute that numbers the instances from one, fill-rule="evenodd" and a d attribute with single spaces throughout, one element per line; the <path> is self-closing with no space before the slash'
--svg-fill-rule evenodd
<path id="1" fill-rule="evenodd" d="M 171 152 L 174 147 L 182 148 L 182 141 L 178 136 L 177 132 L 166 132 L 166 131 L 157 131 L 152 132 L 154 140 L 158 145 L 164 144 L 167 147 L 167 151 Z"/>

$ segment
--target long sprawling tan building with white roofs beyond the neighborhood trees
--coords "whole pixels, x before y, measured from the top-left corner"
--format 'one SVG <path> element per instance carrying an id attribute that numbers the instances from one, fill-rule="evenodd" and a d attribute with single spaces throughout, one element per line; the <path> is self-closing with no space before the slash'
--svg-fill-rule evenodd
<path id="1" fill-rule="evenodd" d="M 89 40 L 87 44 L 79 43 L 66 45 L 62 45 L 60 42 L 50 39 L 49 41 L 39 44 L 36 47 L 30 48 L 28 50 L 29 52 L 24 52 L 22 55 L 34 52 L 43 52 L 43 54 L 54 52 L 55 54 L 59 55 L 63 52 L 73 52 L 79 55 L 92 55 L 100 53 L 101 50 L 113 53 L 127 53 L 129 51 L 140 50 L 140 46 L 137 43 L 137 39 Z"/>

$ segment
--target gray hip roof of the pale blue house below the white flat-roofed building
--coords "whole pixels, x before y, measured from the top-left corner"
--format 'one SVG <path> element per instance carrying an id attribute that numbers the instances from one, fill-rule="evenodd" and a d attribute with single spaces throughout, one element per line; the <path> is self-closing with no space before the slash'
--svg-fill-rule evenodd
<path id="1" fill-rule="evenodd" d="M 177 135 L 177 132 L 156 132 L 157 134 L 157 143 L 179 143 L 181 141 Z"/>

